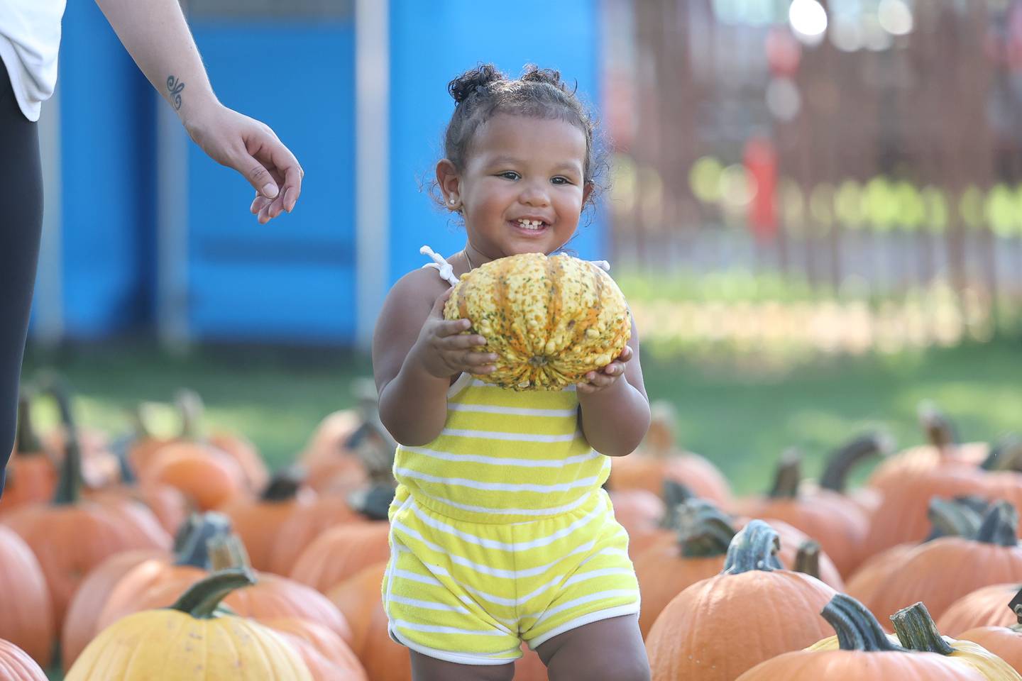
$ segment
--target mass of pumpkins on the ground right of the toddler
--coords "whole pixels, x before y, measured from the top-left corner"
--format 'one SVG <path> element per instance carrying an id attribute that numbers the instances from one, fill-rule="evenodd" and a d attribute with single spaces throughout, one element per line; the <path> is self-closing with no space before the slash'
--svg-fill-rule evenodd
<path id="1" fill-rule="evenodd" d="M 856 437 L 819 480 L 788 451 L 766 494 L 735 498 L 654 417 L 610 477 L 654 681 L 1022 679 L 1018 439 L 959 443 L 924 405 L 925 445 Z"/>

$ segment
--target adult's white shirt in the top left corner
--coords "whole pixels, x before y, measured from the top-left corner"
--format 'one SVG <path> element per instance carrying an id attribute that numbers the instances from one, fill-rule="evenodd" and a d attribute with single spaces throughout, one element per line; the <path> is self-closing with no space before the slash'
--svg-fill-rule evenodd
<path id="1" fill-rule="evenodd" d="M 0 60 L 29 120 L 57 84 L 60 19 L 66 0 L 0 0 Z"/>

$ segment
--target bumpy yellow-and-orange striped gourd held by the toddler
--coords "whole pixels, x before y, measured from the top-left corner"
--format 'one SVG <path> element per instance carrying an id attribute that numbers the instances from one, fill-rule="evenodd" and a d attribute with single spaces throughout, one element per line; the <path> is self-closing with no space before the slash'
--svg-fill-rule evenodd
<path id="1" fill-rule="evenodd" d="M 597 265 L 570 255 L 523 253 L 472 270 L 444 307 L 467 319 L 498 356 L 478 378 L 515 390 L 560 390 L 600 371 L 632 336 L 628 303 Z"/>

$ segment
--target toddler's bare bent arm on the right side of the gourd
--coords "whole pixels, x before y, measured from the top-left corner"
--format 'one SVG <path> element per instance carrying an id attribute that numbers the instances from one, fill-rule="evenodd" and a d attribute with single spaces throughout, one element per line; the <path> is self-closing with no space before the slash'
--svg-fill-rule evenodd
<path id="1" fill-rule="evenodd" d="M 639 333 L 632 323 L 632 338 L 621 356 L 579 385 L 578 406 L 583 433 L 590 445 L 607 456 L 635 451 L 649 428 L 649 398 L 639 363 Z"/>

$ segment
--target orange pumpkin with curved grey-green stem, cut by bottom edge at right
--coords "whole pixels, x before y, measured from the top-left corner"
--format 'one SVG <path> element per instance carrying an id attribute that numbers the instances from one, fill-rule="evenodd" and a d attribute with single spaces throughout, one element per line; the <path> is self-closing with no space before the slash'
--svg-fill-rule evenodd
<path id="1" fill-rule="evenodd" d="M 737 681 L 980 681 L 977 669 L 936 652 L 915 652 L 893 643 L 877 619 L 850 596 L 837 594 L 822 613 L 837 632 L 804 650 L 759 663 Z"/>

